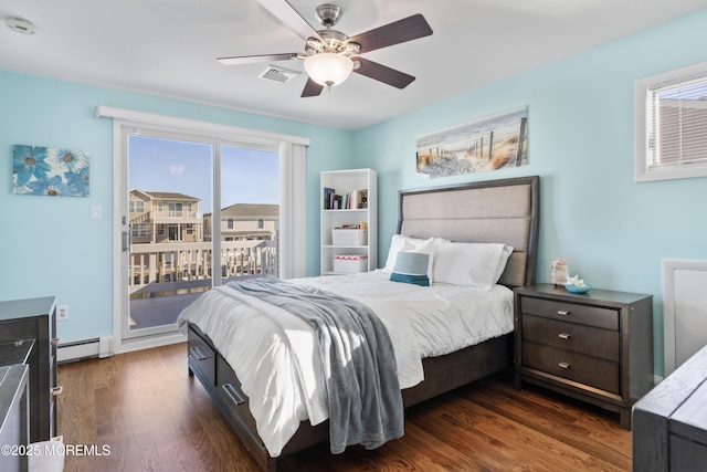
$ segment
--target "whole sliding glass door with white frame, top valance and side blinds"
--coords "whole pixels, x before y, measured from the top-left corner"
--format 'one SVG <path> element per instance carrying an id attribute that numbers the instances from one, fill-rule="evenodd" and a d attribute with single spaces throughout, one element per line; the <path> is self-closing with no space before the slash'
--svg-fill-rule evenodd
<path id="1" fill-rule="evenodd" d="M 98 105 L 113 123 L 113 345 L 183 339 L 175 319 L 235 277 L 306 275 L 309 139 Z"/>

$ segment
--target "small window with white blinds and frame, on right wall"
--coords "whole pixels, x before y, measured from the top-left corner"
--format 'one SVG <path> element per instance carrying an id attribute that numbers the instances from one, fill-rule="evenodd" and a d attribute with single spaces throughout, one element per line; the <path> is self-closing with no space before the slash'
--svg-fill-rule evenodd
<path id="1" fill-rule="evenodd" d="M 707 176 L 707 63 L 636 82 L 636 181 Z"/>

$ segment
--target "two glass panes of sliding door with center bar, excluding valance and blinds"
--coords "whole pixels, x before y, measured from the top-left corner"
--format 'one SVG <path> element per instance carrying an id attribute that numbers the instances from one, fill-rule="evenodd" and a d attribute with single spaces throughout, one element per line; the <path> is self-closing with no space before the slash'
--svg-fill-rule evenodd
<path id="1" fill-rule="evenodd" d="M 123 338 L 175 332 L 212 286 L 277 275 L 276 151 L 157 130 L 125 143 Z"/>

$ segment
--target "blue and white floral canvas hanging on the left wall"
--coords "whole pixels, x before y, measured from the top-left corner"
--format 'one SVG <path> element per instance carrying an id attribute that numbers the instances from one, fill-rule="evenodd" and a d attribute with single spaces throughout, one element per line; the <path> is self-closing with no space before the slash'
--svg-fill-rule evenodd
<path id="1" fill-rule="evenodd" d="M 12 146 L 12 193 L 88 197 L 88 153 Z"/>

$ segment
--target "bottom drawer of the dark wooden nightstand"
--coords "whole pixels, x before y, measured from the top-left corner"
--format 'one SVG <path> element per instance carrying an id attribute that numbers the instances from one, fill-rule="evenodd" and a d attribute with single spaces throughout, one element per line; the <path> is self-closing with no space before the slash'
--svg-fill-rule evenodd
<path id="1" fill-rule="evenodd" d="M 619 364 L 552 346 L 523 343 L 523 365 L 621 395 Z"/>

